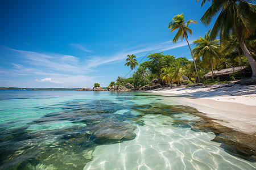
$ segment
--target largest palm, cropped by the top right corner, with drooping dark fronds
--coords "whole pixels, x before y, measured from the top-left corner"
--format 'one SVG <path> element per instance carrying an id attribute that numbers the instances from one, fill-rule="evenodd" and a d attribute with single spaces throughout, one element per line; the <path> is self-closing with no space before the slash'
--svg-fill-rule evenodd
<path id="1" fill-rule="evenodd" d="M 205 0 L 203 1 L 205 2 Z M 205 11 L 201 22 L 209 25 L 214 16 L 218 15 L 213 25 L 210 39 L 220 36 L 221 44 L 228 40 L 230 32 L 237 36 L 243 53 L 248 59 L 252 79 L 256 78 L 256 60 L 245 45 L 245 40 L 255 34 L 256 30 L 256 5 L 249 0 L 212 0 L 212 5 Z M 202 4 L 203 5 L 203 4 Z"/>

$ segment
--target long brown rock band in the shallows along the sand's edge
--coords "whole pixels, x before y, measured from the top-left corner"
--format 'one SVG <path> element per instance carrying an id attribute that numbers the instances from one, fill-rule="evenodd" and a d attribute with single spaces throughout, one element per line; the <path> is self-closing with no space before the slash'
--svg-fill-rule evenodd
<path id="1" fill-rule="evenodd" d="M 256 162 L 255 135 L 242 133 L 232 128 L 222 126 L 217 122 L 214 122 L 213 118 L 207 117 L 205 113 L 199 112 L 195 108 L 183 105 L 166 105 L 162 103 L 155 103 L 134 105 L 132 109 L 142 112 L 143 114 L 162 114 L 165 116 L 170 116 L 176 120 L 172 126 L 176 126 L 178 128 L 191 128 L 191 130 L 196 132 L 213 132 L 216 135 L 213 141 L 220 142 L 221 147 L 227 152 L 251 162 Z M 180 121 L 174 116 L 175 114 L 180 113 L 190 113 L 195 116 L 199 116 L 200 118 L 197 120 Z"/>

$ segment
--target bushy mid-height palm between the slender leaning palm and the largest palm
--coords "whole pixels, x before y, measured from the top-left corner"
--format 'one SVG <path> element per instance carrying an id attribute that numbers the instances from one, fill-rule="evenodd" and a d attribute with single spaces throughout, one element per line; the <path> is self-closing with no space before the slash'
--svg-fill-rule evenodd
<path id="1" fill-rule="evenodd" d="M 214 60 L 218 60 L 220 56 L 220 45 L 218 44 L 220 40 L 211 41 L 209 35 L 210 29 L 203 38 L 200 37 L 200 39 L 193 41 L 193 44 L 196 46 L 196 48 L 193 49 L 193 53 L 196 58 L 202 57 L 204 67 L 208 68 L 210 63 L 213 79 Z"/>

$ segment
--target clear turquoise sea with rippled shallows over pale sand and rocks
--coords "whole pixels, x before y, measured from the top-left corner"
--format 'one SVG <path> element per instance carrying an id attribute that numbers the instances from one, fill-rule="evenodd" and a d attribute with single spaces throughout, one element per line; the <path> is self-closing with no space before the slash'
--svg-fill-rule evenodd
<path id="1" fill-rule="evenodd" d="M 145 92 L 0 90 L 0 169 L 256 169 Z"/>

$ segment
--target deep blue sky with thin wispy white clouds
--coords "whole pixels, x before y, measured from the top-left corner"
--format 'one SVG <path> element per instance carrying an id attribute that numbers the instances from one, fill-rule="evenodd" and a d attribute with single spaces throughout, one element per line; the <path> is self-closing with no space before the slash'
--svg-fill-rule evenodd
<path id="1" fill-rule="evenodd" d="M 200 22 L 207 3 L 187 1 L 0 1 L 0 87 L 108 86 L 131 76 L 127 54 L 145 61 L 164 52 L 191 59 L 184 41 L 174 44 L 168 23 L 177 14 L 191 24 L 189 42 L 212 25 Z M 193 47 L 193 45 L 192 45 Z"/>

